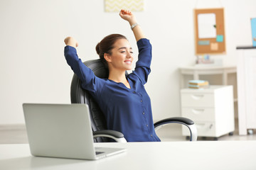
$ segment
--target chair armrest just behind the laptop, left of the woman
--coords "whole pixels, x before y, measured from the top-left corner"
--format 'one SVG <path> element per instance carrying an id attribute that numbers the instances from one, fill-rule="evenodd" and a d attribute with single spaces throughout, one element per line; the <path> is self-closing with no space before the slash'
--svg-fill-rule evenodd
<path id="1" fill-rule="evenodd" d="M 115 130 L 97 130 L 93 132 L 93 137 L 110 137 L 116 142 L 127 142 L 122 132 L 117 132 Z"/>

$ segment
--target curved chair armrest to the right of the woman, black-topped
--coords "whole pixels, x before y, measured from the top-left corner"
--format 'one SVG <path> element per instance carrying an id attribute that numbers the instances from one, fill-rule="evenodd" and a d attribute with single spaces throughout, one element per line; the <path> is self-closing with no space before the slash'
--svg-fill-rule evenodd
<path id="1" fill-rule="evenodd" d="M 162 128 L 164 125 L 167 125 L 169 123 L 178 123 L 178 124 L 186 125 L 186 127 L 191 133 L 190 141 L 197 140 L 196 125 L 194 124 L 193 120 L 190 120 L 188 118 L 183 118 L 183 117 L 166 118 L 154 123 L 154 128 L 157 131 L 160 128 Z"/>

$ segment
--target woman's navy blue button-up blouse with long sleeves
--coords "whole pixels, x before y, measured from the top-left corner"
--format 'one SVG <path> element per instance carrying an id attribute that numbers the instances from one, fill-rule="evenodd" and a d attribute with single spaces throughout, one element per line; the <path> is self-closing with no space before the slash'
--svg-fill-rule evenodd
<path id="1" fill-rule="evenodd" d="M 146 94 L 150 73 L 151 44 L 142 38 L 137 42 L 139 57 L 135 70 L 127 75 L 131 86 L 110 79 L 100 79 L 78 58 L 74 47 L 66 46 L 65 59 L 82 81 L 82 88 L 90 92 L 107 119 L 107 128 L 124 134 L 128 142 L 160 141 L 154 130 L 151 101 Z"/>

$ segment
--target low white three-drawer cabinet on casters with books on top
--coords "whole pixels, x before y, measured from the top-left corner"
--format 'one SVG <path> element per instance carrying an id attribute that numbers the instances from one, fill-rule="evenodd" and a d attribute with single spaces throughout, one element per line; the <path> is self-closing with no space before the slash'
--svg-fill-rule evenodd
<path id="1" fill-rule="evenodd" d="M 181 115 L 196 124 L 198 136 L 220 137 L 235 130 L 233 86 L 181 89 Z M 182 135 L 189 136 L 186 127 Z"/>

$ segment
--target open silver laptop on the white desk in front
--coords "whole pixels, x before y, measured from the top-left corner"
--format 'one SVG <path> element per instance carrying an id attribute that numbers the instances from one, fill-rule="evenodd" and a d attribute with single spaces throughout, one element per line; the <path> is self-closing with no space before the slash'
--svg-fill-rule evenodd
<path id="1" fill-rule="evenodd" d="M 95 160 L 125 151 L 94 147 L 86 104 L 23 103 L 23 113 L 33 156 Z"/>

